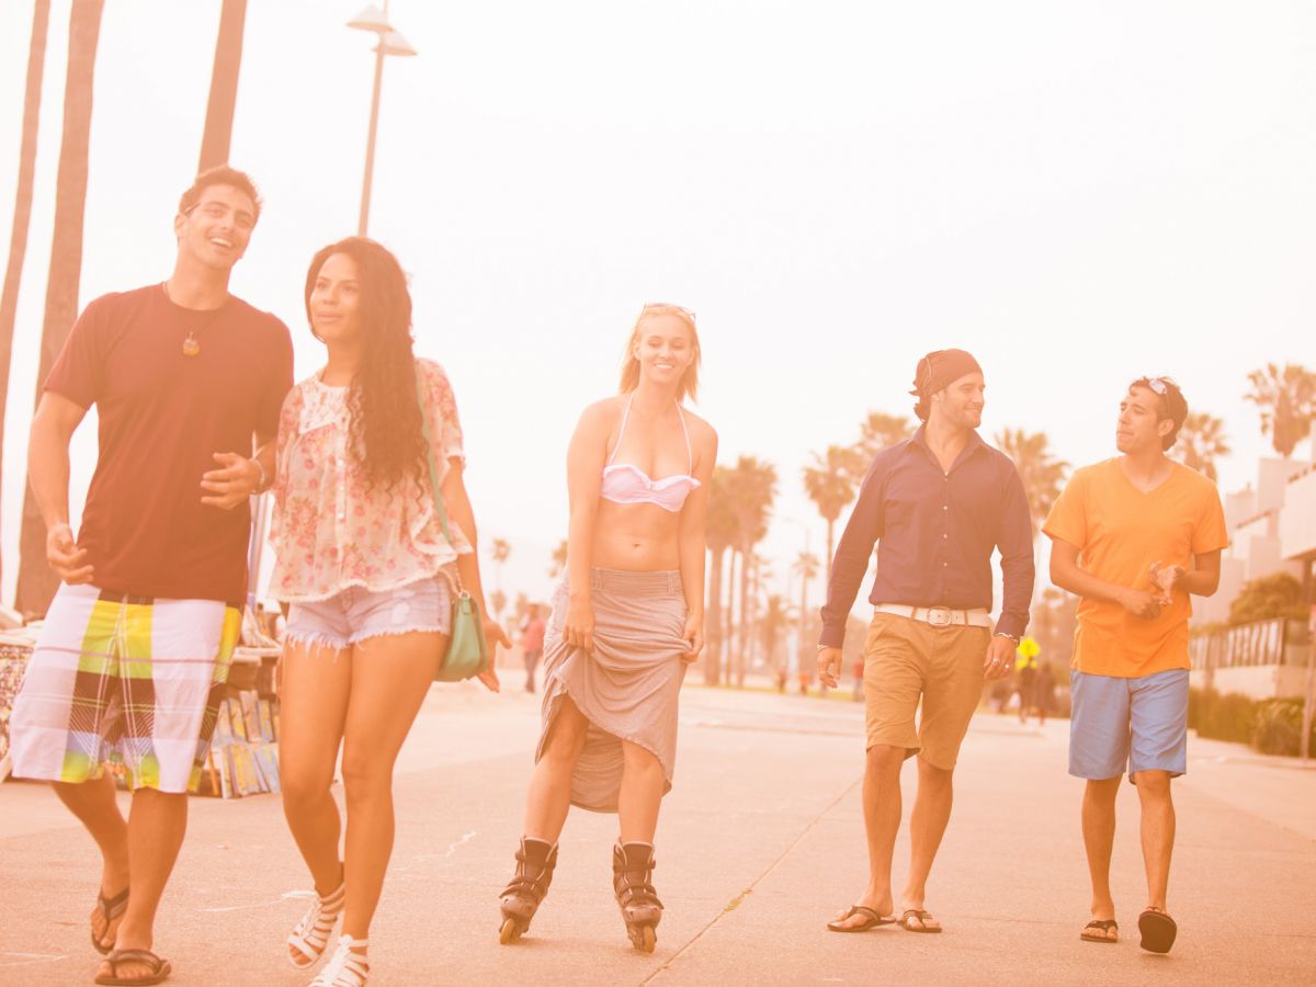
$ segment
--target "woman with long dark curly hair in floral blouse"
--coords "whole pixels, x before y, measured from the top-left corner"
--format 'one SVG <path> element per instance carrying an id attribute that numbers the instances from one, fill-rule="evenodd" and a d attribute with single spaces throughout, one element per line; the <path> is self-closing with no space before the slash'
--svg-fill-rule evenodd
<path id="1" fill-rule="evenodd" d="M 361 237 L 311 262 L 312 333 L 328 362 L 284 400 L 279 422 L 272 594 L 291 604 L 282 665 L 283 808 L 316 883 L 288 936 L 312 983 L 366 983 L 366 940 L 393 842 L 392 769 L 447 645 L 455 569 L 487 613 L 465 453 L 442 367 L 412 354 L 411 295 L 397 259 Z M 434 513 L 421 399 L 453 542 Z M 484 622 L 491 641 L 509 642 Z M 497 691 L 494 670 L 480 680 Z M 347 833 L 329 791 L 338 747 Z"/>

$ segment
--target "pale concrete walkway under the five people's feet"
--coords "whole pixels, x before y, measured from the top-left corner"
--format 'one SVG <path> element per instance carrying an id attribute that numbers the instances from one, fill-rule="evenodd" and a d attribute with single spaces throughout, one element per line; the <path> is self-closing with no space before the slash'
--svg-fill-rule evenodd
<path id="1" fill-rule="evenodd" d="M 1082 783 L 1067 724 L 975 720 L 929 887 L 942 936 L 826 932 L 866 874 L 862 709 L 687 688 L 675 788 L 658 834 L 658 950 L 626 942 L 611 888 L 616 820 L 572 812 L 530 936 L 497 945 L 536 697 L 436 688 L 399 763 L 397 842 L 371 933 L 372 984 L 1309 983 L 1316 970 L 1316 770 L 1195 741 L 1175 786 L 1167 957 L 1137 946 L 1137 796 L 1124 786 L 1113 878 L 1125 941 L 1083 944 Z M 907 765 L 905 812 L 913 765 Z M 340 791 L 341 790 L 336 790 Z M 301 984 L 283 937 L 309 882 L 279 800 L 193 799 L 157 945 L 171 983 Z M 896 883 L 908 861 L 901 833 Z M 89 983 L 91 840 L 34 784 L 0 786 L 0 984 Z"/>

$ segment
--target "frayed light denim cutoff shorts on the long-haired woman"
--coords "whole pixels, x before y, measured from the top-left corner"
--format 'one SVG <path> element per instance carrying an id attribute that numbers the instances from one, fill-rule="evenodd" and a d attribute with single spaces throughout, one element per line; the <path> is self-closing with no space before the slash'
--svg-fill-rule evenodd
<path id="1" fill-rule="evenodd" d="M 413 630 L 446 634 L 451 629 L 453 591 L 442 575 L 372 592 L 350 586 L 328 600 L 293 603 L 286 641 L 342 650 L 371 637 Z"/>

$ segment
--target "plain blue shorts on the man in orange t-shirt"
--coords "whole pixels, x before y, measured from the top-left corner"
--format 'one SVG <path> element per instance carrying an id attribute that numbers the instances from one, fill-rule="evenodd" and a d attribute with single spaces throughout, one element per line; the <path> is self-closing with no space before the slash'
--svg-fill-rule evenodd
<path id="1" fill-rule="evenodd" d="M 1188 770 L 1188 670 L 1138 679 L 1070 671 L 1070 774 L 1129 780 L 1138 771 Z"/>

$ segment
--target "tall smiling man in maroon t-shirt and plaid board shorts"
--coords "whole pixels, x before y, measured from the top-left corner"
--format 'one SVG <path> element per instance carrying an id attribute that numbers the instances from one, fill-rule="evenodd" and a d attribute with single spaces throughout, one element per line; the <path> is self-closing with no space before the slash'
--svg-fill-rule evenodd
<path id="1" fill-rule="evenodd" d="M 241 171 L 197 175 L 170 276 L 87 305 L 32 422 L 28 476 L 63 582 L 14 701 L 13 774 L 54 782 L 100 848 L 96 983 L 171 971 L 153 951 L 155 911 L 238 641 L 250 496 L 274 475 L 292 384 L 287 326 L 229 293 L 259 216 Z M 68 441 L 92 405 L 100 446 L 75 540 Z M 109 765 L 133 792 L 128 821 Z"/>

